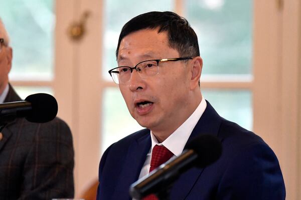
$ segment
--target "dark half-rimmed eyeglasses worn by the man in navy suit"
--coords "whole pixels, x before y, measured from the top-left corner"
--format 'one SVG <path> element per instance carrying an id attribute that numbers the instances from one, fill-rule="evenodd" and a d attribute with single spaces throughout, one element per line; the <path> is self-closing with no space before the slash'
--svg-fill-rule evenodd
<path id="1" fill-rule="evenodd" d="M 131 73 L 135 69 L 141 78 L 154 76 L 159 73 L 159 62 L 165 61 L 178 61 L 185 59 L 193 59 L 193 57 L 177 57 L 177 58 L 164 58 L 164 59 L 149 59 L 139 62 L 134 67 L 118 66 L 109 70 L 109 73 L 115 83 L 127 84 L 129 83 Z"/>

